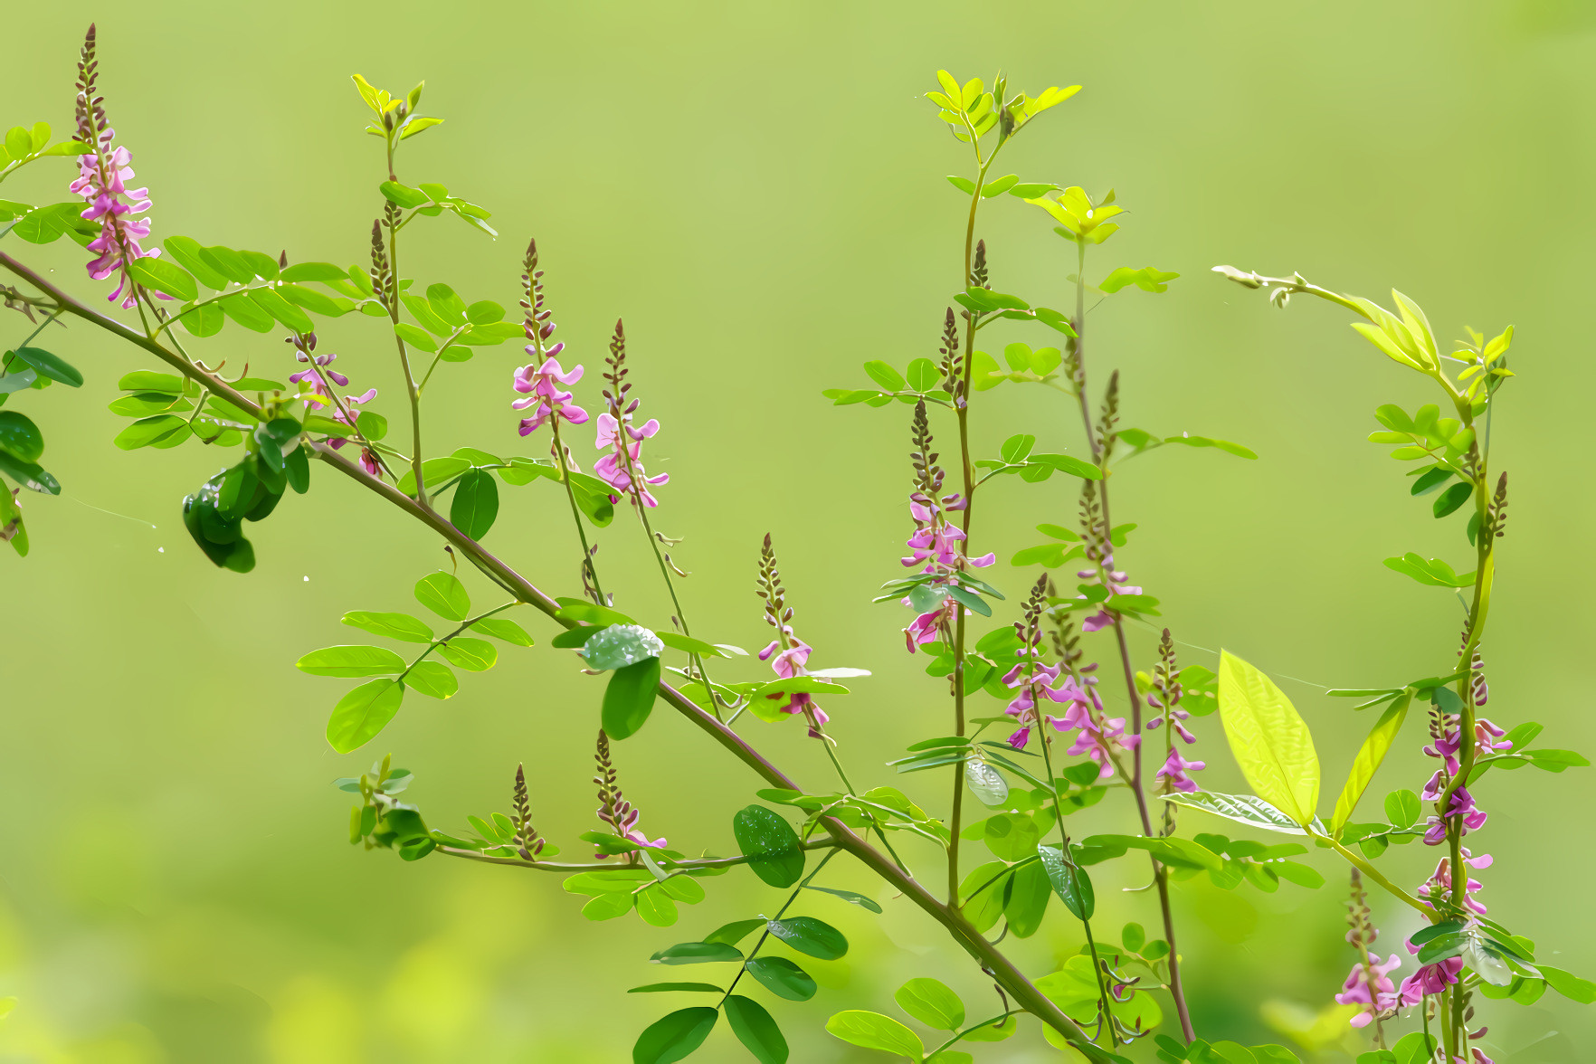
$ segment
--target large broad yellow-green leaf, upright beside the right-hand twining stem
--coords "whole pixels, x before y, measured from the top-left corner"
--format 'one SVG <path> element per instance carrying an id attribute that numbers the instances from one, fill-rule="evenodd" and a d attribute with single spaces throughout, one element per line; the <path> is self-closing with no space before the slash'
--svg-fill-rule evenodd
<path id="1" fill-rule="evenodd" d="M 1314 735 L 1280 688 L 1229 651 L 1219 652 L 1219 718 L 1253 793 L 1309 825 L 1318 806 Z"/>

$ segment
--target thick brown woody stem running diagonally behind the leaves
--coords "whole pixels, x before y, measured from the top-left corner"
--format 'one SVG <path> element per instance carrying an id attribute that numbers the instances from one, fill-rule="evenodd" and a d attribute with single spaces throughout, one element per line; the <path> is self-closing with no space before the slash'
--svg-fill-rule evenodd
<path id="1" fill-rule="evenodd" d="M 148 351 L 155 357 L 161 359 L 172 368 L 176 368 L 184 376 L 209 388 L 217 396 L 235 404 L 239 410 L 249 412 L 252 415 L 260 413 L 260 407 L 239 394 L 227 381 L 219 376 L 207 373 L 196 367 L 188 359 L 168 349 L 161 343 L 132 330 L 118 322 L 113 317 L 102 314 L 101 311 L 85 305 L 67 292 L 61 290 L 57 286 L 46 281 L 37 271 L 30 270 L 24 263 L 18 262 L 11 255 L 0 252 L 0 266 L 16 274 L 18 278 L 27 281 L 30 286 L 37 287 L 40 292 L 49 295 L 56 305 L 93 325 L 97 325 L 144 351 Z M 404 495 L 394 485 L 372 477 L 358 464 L 348 461 L 338 451 L 332 450 L 326 443 L 311 443 L 311 450 L 316 456 L 337 469 L 345 477 L 354 480 L 367 491 L 372 491 L 388 502 L 394 504 L 415 520 L 421 522 L 439 536 L 442 536 L 448 544 L 468 555 L 484 573 L 501 582 L 512 595 L 520 601 L 536 606 L 539 611 L 555 619 L 565 627 L 575 627 L 575 622 L 560 621 L 555 617 L 560 606 L 543 590 L 535 587 L 527 577 L 512 569 L 509 565 L 496 558 L 482 544 L 476 542 L 458 528 L 450 525 L 436 510 L 421 506 L 417 499 Z M 801 790 L 787 774 L 771 764 L 758 750 L 749 745 L 741 735 L 731 731 L 726 724 L 715 719 L 713 715 L 699 708 L 691 699 L 677 691 L 667 683 L 659 684 L 659 697 L 670 705 L 674 710 L 681 713 L 693 723 L 699 731 L 705 732 L 712 740 L 723 747 L 728 753 L 737 758 L 742 764 L 750 767 L 760 778 L 772 786 Z M 927 916 L 937 920 L 948 935 L 961 946 L 970 957 L 986 971 L 1002 989 L 1013 997 L 1026 1011 L 1034 1015 L 1037 1019 L 1047 1026 L 1058 1031 L 1076 1050 L 1079 1050 L 1088 1061 L 1096 1064 L 1106 1064 L 1111 1058 L 1109 1054 L 1087 1038 L 1085 1032 L 1063 1013 L 1058 1005 L 1049 1000 L 1021 971 L 1015 964 L 1004 956 L 993 943 L 977 932 L 964 914 L 953 909 L 942 901 L 938 901 L 926 887 L 922 887 L 913 876 L 899 868 L 891 858 L 870 845 L 863 837 L 855 834 L 843 822 L 835 817 L 822 817 L 820 828 L 827 833 L 832 842 L 843 850 L 852 853 L 862 865 L 865 865 L 876 876 L 889 882 L 894 890 L 905 895 L 910 901 L 919 906 Z"/>

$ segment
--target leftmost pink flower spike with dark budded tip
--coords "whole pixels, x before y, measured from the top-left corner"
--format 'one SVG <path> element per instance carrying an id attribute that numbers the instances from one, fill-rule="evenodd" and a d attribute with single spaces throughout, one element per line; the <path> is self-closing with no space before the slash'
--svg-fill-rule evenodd
<path id="1" fill-rule="evenodd" d="M 139 241 L 150 234 L 150 220 L 137 215 L 150 209 L 148 188 L 129 188 L 134 179 L 132 153 L 124 145 L 113 147 L 117 131 L 105 121 L 102 96 L 96 94 L 97 61 L 94 57 L 94 27 L 89 26 L 78 59 L 78 140 L 94 150 L 78 156 L 78 179 L 69 187 L 89 206 L 83 219 L 99 222 L 101 231 L 88 249 L 94 258 L 88 263 L 89 278 L 104 281 L 113 273 L 117 289 L 105 297 L 121 301 L 123 309 L 139 305 L 139 290 L 128 274 L 128 265 L 136 258 L 160 255 L 158 247 L 145 250 Z M 156 292 L 160 298 L 171 298 Z"/>

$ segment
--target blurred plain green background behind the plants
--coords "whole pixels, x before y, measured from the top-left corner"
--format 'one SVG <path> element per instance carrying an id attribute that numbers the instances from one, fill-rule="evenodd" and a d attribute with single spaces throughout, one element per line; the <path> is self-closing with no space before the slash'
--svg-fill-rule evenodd
<path id="1" fill-rule="evenodd" d="M 1363 440 L 1374 405 L 1428 400 L 1416 376 L 1334 308 L 1298 301 L 1280 314 L 1207 268 L 1301 270 L 1381 298 L 1396 286 L 1443 337 L 1518 325 L 1519 376 L 1495 428 L 1513 523 L 1486 643 L 1491 715 L 1540 719 L 1547 745 L 1591 750 L 1578 662 L 1596 635 L 1582 605 L 1593 506 L 1580 487 L 1578 397 L 1593 384 L 1593 11 L 1583 0 L 29 5 L 6 16 L 0 124 L 70 126 L 77 46 L 97 19 L 107 107 L 150 185 L 156 238 L 361 262 L 381 163 L 350 73 L 401 91 L 425 77 L 423 110 L 447 124 L 407 144 L 401 177 L 485 204 L 503 236 L 450 219 L 418 225 L 405 273 L 511 305 L 536 234 L 589 399 L 608 330 L 626 316 L 635 394 L 664 424 L 650 467 L 672 474 L 658 525 L 686 538 L 675 554 L 694 571 L 689 616 L 717 640 L 764 643 L 753 576 L 772 531 L 798 630 L 817 648 L 811 664 L 875 670 L 830 708 L 855 778 L 879 783 L 891 778 L 881 763 L 946 718 L 942 684 L 903 654 L 905 614 L 868 605 L 900 571 L 908 412 L 833 408 L 819 392 L 863 383 L 865 359 L 934 354 L 964 211 L 942 175 L 967 171 L 964 147 L 919 99 L 934 70 L 990 80 L 1002 67 L 1033 94 L 1084 83 L 998 172 L 1114 187 L 1132 214 L 1096 255 L 1100 273 L 1152 263 L 1183 274 L 1165 295 L 1120 294 L 1093 316 L 1100 381 L 1111 364 L 1124 370 L 1124 423 L 1261 455 L 1167 450 L 1125 466 L 1116 517 L 1141 528 L 1120 560 L 1163 600 L 1178 638 L 1310 681 L 1282 680 L 1317 729 L 1331 788 L 1368 721 L 1314 684 L 1384 684 L 1449 660 L 1456 603 L 1381 558 L 1420 550 L 1462 563 L 1462 522 L 1430 520 Z M 69 179 L 64 163 L 38 164 L 6 196 L 64 199 Z M 1039 212 L 991 201 L 980 233 L 999 290 L 1065 300 L 1073 258 Z M 22 250 L 102 298 L 75 246 Z M 21 319 L 5 327 L 13 341 L 24 335 Z M 356 317 L 322 337 L 402 421 L 381 330 Z M 728 876 L 675 928 L 591 925 L 554 876 L 351 849 L 348 796 L 330 780 L 393 750 L 418 775 L 409 796 L 455 831 L 468 812 L 504 809 L 525 761 L 536 823 L 581 853 L 598 683 L 563 652 L 509 651 L 455 699 L 413 699 L 372 747 L 334 755 L 322 727 L 343 684 L 292 662 L 346 640 L 346 609 L 413 608 L 410 584 L 447 566 L 439 542 L 318 472 L 310 496 L 252 533 L 255 573 L 214 569 L 177 504 L 220 458 L 193 445 L 113 448 L 123 423 L 104 404 L 147 359 L 77 325 L 48 340 L 89 381 L 24 396 L 65 490 L 27 501 L 34 554 L 0 562 L 0 995 L 21 999 L 0 1023 L 0 1059 L 629 1059 L 635 1032 L 667 1008 L 621 992 L 658 978 L 648 954 L 768 911 L 774 892 Z M 206 349 L 228 372 L 290 372 L 284 345 L 236 327 Z M 517 354 L 485 349 L 445 367 L 429 451 L 536 453 L 519 445 L 509 410 Z M 1042 389 L 982 394 L 974 424 L 982 451 L 1021 429 L 1053 450 L 1079 447 L 1069 412 Z M 508 491 L 488 546 L 570 593 L 571 534 L 547 488 Z M 978 549 L 1005 558 L 1036 539 L 1031 525 L 1068 520 L 1071 488 L 1063 477 L 994 488 Z M 606 582 L 624 589 L 618 605 L 664 622 L 635 523 L 618 520 L 600 541 Z M 1029 579 L 998 573 L 1010 592 Z M 539 640 L 552 633 L 523 622 Z M 1149 649 L 1143 633 L 1144 662 Z M 1183 659 L 1213 665 L 1191 648 Z M 752 664 L 739 673 L 758 675 Z M 801 727 L 750 727 L 824 786 Z M 1218 723 L 1199 731 L 1205 783 L 1238 788 Z M 1417 745 L 1412 729 L 1376 790 L 1424 782 Z M 651 834 L 733 847 L 731 810 L 757 782 L 680 718 L 656 715 L 618 759 Z M 911 785 L 942 809 L 943 783 Z M 1492 916 L 1585 975 L 1596 971 L 1578 887 L 1596 871 L 1593 796 L 1588 772 L 1494 774 L 1479 794 L 1492 810 L 1478 847 L 1497 857 L 1483 876 Z M 1128 826 L 1124 809 L 1087 817 Z M 1428 874 L 1422 849 L 1387 857 L 1400 882 Z M 907 857 L 932 863 L 913 844 Z M 1310 860 L 1331 877 L 1320 892 L 1179 890 L 1203 1034 L 1285 1040 L 1282 1024 L 1306 1023 L 1339 989 L 1352 962 L 1344 873 Z M 879 895 L 857 866 L 835 868 L 836 885 Z M 1138 874 L 1133 863 L 1101 873 L 1106 927 L 1154 924 L 1148 895 L 1114 890 L 1140 885 Z M 884 917 L 812 904 L 854 951 L 814 965 L 816 1002 L 777 1003 L 795 1061 L 884 1059 L 820 1024 L 838 1008 L 895 1011 L 891 991 L 911 975 L 946 979 L 972 1008 L 991 997 L 929 922 L 881 900 Z M 1403 917 L 1384 904 L 1381 916 L 1393 928 L 1382 944 L 1395 948 Z M 1055 919 L 1015 952 L 1042 973 L 1079 944 Z M 1588 1010 L 1550 994 L 1483 1011 L 1499 1062 L 1582 1059 L 1575 1046 L 1596 1037 Z M 721 1029 L 696 1059 L 747 1058 Z M 1031 1029 L 980 1059 L 1057 1053 Z M 1323 1059 L 1347 1058 L 1329 1046 Z"/>

